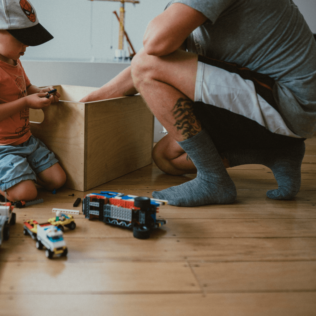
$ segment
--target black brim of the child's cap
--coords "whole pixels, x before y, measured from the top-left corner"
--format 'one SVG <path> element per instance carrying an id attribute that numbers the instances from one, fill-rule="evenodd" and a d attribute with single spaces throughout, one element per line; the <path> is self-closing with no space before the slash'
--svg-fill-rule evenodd
<path id="1" fill-rule="evenodd" d="M 7 30 L 13 37 L 27 46 L 37 46 L 52 40 L 54 37 L 40 23 L 27 28 Z"/>

